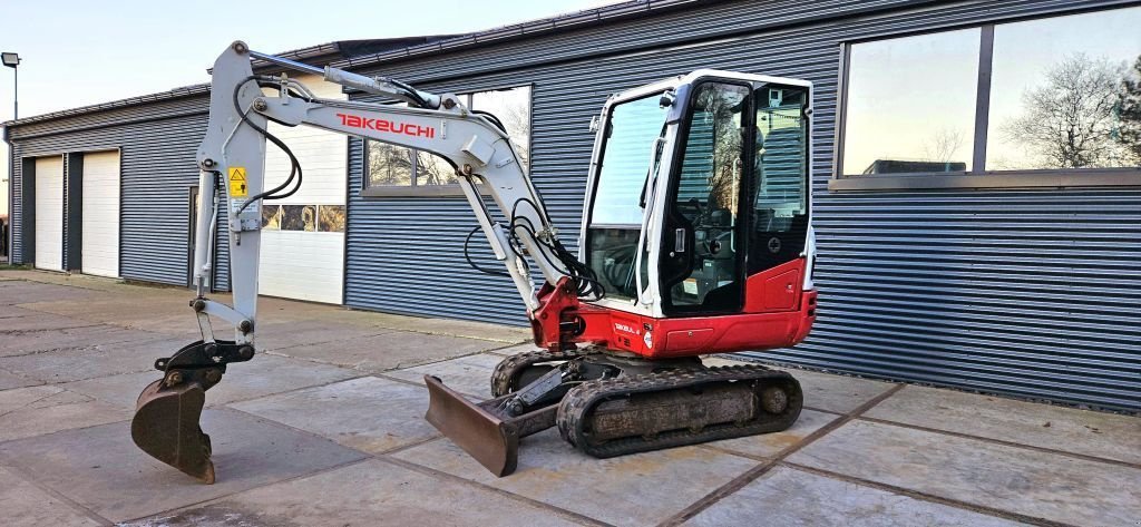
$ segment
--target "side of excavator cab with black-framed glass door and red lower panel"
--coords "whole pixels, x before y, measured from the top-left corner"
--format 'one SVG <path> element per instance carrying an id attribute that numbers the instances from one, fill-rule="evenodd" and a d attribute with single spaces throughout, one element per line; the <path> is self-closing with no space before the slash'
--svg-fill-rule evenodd
<path id="1" fill-rule="evenodd" d="M 794 309 L 807 273 L 809 89 L 705 80 L 690 94 L 663 210 L 662 310 Z"/>

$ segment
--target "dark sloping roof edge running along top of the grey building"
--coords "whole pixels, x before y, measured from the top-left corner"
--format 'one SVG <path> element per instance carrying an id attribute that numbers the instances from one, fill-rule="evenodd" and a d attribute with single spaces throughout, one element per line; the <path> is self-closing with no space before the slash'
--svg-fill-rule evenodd
<path id="1" fill-rule="evenodd" d="M 342 40 L 283 51 L 277 55 L 294 60 L 304 60 L 310 64 L 331 65 L 341 68 L 359 67 L 388 60 L 444 54 L 455 51 L 456 49 L 501 43 L 508 40 L 541 37 L 551 32 L 607 24 L 624 18 L 644 17 L 649 14 L 657 14 L 666 9 L 696 5 L 702 1 L 703 0 L 630 0 L 548 18 L 493 27 L 476 33 L 459 35 L 404 37 L 394 39 Z M 274 65 L 261 60 L 254 60 L 253 67 L 254 70 L 264 73 L 281 70 L 280 67 L 275 67 Z M 209 91 L 209 83 L 194 84 L 175 88 L 170 91 L 162 91 L 159 94 L 144 95 L 139 97 L 113 100 L 110 103 L 80 106 L 76 108 L 23 117 L 0 124 L 5 127 L 18 127 L 22 124 L 50 121 L 52 119 L 65 116 L 74 116 L 92 112 L 102 112 L 105 110 L 147 104 L 157 100 L 202 95 L 208 94 Z"/>

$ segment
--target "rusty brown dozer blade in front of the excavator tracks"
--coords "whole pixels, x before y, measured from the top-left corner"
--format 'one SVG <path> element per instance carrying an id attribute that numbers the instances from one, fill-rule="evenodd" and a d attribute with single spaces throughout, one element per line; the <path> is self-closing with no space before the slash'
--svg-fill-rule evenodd
<path id="1" fill-rule="evenodd" d="M 429 423 L 495 476 L 515 472 L 519 430 L 513 423 L 477 406 L 435 376 L 424 375 L 424 383 L 429 397 L 424 419 Z"/>

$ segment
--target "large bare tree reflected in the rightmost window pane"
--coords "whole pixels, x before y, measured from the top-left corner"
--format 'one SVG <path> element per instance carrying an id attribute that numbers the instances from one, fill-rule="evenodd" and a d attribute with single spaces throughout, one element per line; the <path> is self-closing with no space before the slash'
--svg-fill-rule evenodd
<path id="1" fill-rule="evenodd" d="M 1118 94 L 1125 65 L 1068 55 L 1045 82 L 1022 94 L 1025 113 L 1002 129 L 1035 156 L 1036 167 L 1119 167 L 1128 155 L 1118 136 Z"/>

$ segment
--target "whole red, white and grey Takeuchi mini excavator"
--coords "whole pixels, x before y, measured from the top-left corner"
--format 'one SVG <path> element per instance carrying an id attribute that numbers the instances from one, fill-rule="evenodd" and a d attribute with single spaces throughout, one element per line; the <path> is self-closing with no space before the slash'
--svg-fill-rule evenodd
<path id="1" fill-rule="evenodd" d="M 254 58 L 406 105 L 322 99 L 286 75 L 254 74 Z M 482 403 L 426 376 L 426 419 L 495 475 L 516 469 L 520 438 L 551 427 L 580 451 L 610 457 L 779 431 L 800 415 L 803 396 L 790 374 L 707 367 L 699 356 L 793 346 L 812 326 L 809 82 L 698 70 L 610 96 L 591 123 L 575 253 L 559 241 L 503 124 L 454 95 L 243 42 L 218 57 L 212 75 L 197 162 L 201 195 L 218 197 L 199 205 L 191 300 L 202 340 L 157 359 L 162 378 L 139 396 L 131 436 L 152 456 L 215 480 L 199 423 L 205 391 L 230 363 L 256 355 L 261 205 L 302 181 L 268 121 L 429 152 L 455 169 L 503 262 L 494 273 L 519 290 L 539 349 L 503 359 L 493 398 Z M 266 140 L 292 165 L 270 189 L 262 188 Z M 219 214 L 233 306 L 207 298 Z M 212 317 L 234 327 L 233 340 L 215 337 Z"/>

